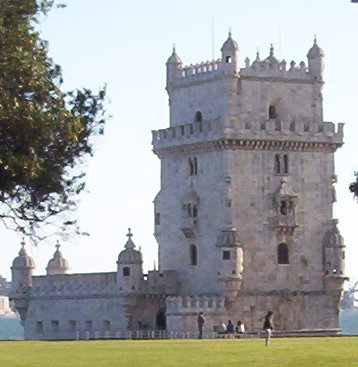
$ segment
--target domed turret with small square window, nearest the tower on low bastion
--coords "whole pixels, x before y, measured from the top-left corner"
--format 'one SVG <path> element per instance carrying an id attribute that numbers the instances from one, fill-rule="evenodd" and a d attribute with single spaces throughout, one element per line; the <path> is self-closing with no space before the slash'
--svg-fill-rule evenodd
<path id="1" fill-rule="evenodd" d="M 117 261 L 117 285 L 123 292 L 138 292 L 143 282 L 142 253 L 135 250 L 132 241 L 133 234 L 128 229 L 128 240 L 124 250 L 119 254 Z"/>

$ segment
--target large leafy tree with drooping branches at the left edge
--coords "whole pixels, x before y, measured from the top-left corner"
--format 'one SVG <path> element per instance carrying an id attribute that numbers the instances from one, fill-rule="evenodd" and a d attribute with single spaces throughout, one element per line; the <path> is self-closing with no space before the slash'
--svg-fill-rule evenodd
<path id="1" fill-rule="evenodd" d="M 85 187 L 79 163 L 105 123 L 105 88 L 61 91 L 61 67 L 35 29 L 53 6 L 0 0 L 0 219 L 33 242 L 54 224 L 78 232 L 70 213 Z"/>

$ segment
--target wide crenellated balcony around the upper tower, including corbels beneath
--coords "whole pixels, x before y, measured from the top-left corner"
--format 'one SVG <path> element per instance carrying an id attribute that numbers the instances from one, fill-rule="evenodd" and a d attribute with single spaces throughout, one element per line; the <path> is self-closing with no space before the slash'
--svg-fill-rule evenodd
<path id="1" fill-rule="evenodd" d="M 278 119 L 237 119 L 224 125 L 217 119 L 152 131 L 152 144 L 159 156 L 221 149 L 223 141 L 237 149 L 335 151 L 343 144 L 343 127 L 343 123 L 336 127 L 331 122 Z"/>

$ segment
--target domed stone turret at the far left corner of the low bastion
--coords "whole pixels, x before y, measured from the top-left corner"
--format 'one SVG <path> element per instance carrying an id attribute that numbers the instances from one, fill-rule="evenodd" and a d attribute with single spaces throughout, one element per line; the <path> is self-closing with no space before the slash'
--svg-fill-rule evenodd
<path id="1" fill-rule="evenodd" d="M 28 292 L 32 285 L 32 274 L 35 269 L 34 260 L 25 250 L 25 242 L 21 242 L 19 255 L 12 262 L 10 299 L 14 301 L 21 320 L 26 318 L 28 309 Z"/>

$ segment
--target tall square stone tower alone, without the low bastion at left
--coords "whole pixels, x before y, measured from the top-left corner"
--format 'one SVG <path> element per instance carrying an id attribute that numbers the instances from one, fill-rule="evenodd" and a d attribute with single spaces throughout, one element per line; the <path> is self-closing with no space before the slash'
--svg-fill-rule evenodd
<path id="1" fill-rule="evenodd" d="M 174 49 L 166 64 L 170 127 L 153 131 L 159 267 L 197 297 L 187 311 L 171 298 L 167 317 L 175 309 L 185 323 L 215 296 L 225 297 L 220 317 L 249 328 L 272 309 L 278 329 L 334 333 L 346 279 L 332 217 L 343 124 L 323 121 L 323 51 L 315 39 L 308 66 L 287 65 L 271 45 L 240 68 L 229 33 L 221 52 L 183 66 Z"/>

